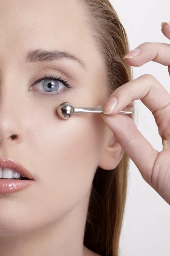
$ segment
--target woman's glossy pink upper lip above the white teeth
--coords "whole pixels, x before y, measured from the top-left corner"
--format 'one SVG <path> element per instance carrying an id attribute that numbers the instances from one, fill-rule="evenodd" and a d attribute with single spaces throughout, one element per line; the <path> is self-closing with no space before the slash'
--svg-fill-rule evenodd
<path id="1" fill-rule="evenodd" d="M 15 172 L 20 173 L 21 175 L 26 176 L 28 179 L 34 180 L 34 177 L 31 173 L 23 167 L 20 163 L 17 163 L 14 159 L 11 158 L 0 158 L 0 167 L 1 168 L 8 168 Z"/>

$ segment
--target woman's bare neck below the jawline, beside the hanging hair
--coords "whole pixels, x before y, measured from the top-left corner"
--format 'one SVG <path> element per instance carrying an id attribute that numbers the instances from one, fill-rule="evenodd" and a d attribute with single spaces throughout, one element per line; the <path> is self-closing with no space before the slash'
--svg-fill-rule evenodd
<path id="1" fill-rule="evenodd" d="M 83 245 L 90 190 L 79 204 L 56 222 L 12 236 L 0 233 L 3 256 L 85 256 Z"/>

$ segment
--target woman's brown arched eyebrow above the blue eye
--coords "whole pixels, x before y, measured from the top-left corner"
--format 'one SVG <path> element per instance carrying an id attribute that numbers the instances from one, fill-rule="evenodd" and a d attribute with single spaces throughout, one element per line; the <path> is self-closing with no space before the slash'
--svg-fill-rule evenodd
<path id="1" fill-rule="evenodd" d="M 85 62 L 77 58 L 77 56 L 69 52 L 62 52 L 59 50 L 54 50 L 54 51 L 48 51 L 43 49 L 30 50 L 26 55 L 26 62 L 61 60 L 62 58 L 68 58 L 68 59 L 77 61 L 83 68 L 86 68 Z"/>

